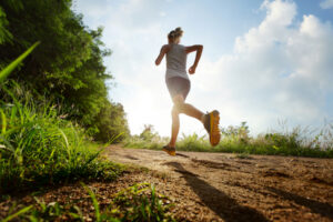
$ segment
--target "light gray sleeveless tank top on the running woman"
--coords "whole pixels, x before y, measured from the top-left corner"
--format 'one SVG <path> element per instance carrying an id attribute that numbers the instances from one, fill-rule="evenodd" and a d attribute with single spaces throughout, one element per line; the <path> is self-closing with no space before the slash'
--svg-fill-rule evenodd
<path id="1" fill-rule="evenodd" d="M 186 72 L 186 58 L 185 47 L 182 44 L 171 44 L 167 53 L 167 72 L 165 80 L 180 77 L 189 80 Z"/>

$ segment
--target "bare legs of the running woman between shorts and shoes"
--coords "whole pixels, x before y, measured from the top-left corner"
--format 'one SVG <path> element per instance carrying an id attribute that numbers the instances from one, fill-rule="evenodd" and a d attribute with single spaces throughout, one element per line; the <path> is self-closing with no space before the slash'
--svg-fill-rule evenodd
<path id="1" fill-rule="evenodd" d="M 173 108 L 172 108 L 172 132 L 171 140 L 169 145 L 174 148 L 176 137 L 179 133 L 180 121 L 179 114 L 184 113 L 189 117 L 195 118 L 199 121 L 203 122 L 204 113 L 194 108 L 192 104 L 185 103 L 182 94 L 178 94 L 173 98 Z"/>

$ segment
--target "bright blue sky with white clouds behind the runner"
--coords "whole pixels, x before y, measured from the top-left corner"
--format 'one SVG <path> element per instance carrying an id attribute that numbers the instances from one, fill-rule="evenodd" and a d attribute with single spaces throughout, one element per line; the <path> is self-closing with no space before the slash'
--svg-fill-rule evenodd
<path id="1" fill-rule="evenodd" d="M 333 122 L 333 0 L 74 0 L 72 9 L 104 28 L 109 98 L 123 104 L 132 134 L 152 124 L 170 135 L 165 61 L 154 60 L 176 27 L 181 44 L 204 47 L 186 101 L 218 109 L 221 127 L 246 121 L 258 134 Z M 205 133 L 185 115 L 180 131 Z"/>

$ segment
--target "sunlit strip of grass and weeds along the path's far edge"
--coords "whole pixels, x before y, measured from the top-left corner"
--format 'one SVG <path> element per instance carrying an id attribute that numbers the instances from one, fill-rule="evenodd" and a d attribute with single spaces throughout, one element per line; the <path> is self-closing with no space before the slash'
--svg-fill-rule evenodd
<path id="1" fill-rule="evenodd" d="M 152 128 L 150 128 L 151 130 Z M 333 125 L 326 124 L 313 135 L 307 129 L 294 128 L 289 131 L 270 132 L 251 137 L 249 127 L 243 122 L 239 127 L 221 129 L 221 142 L 211 147 L 206 137 L 182 135 L 176 143 L 176 150 L 198 152 L 226 152 L 268 155 L 294 155 L 313 158 L 333 158 Z M 124 142 L 128 148 L 145 148 L 161 150 L 169 141 L 155 132 L 145 130 Z"/>

